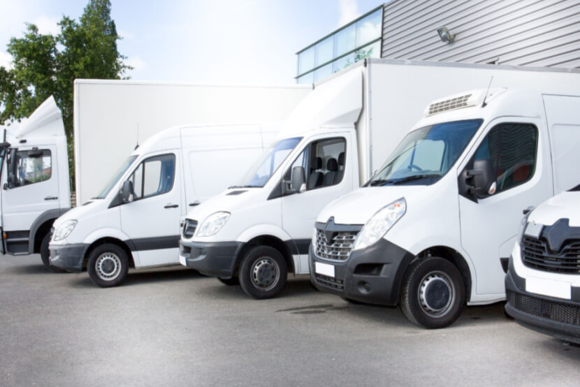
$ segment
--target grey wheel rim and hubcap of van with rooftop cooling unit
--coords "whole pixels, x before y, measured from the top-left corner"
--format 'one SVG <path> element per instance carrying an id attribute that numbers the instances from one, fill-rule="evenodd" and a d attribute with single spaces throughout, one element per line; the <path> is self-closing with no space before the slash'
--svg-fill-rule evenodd
<path id="1" fill-rule="evenodd" d="M 419 305 L 431 317 L 442 317 L 454 305 L 456 291 L 444 272 L 430 272 L 419 284 Z"/>

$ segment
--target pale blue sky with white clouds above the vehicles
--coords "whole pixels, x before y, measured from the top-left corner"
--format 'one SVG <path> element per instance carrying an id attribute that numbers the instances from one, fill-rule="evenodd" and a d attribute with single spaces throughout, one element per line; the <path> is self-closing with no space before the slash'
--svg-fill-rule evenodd
<path id="1" fill-rule="evenodd" d="M 88 0 L 0 0 L 0 66 L 25 23 L 58 34 Z M 111 0 L 118 49 L 133 80 L 203 84 L 295 83 L 296 52 L 384 0 Z"/>

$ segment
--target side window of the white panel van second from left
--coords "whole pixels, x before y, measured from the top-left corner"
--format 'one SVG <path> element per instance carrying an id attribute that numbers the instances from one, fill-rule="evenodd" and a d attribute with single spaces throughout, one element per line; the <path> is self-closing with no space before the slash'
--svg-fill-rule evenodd
<path id="1" fill-rule="evenodd" d="M 133 183 L 135 200 L 171 191 L 175 180 L 175 155 L 164 154 L 145 159 L 129 180 Z"/>

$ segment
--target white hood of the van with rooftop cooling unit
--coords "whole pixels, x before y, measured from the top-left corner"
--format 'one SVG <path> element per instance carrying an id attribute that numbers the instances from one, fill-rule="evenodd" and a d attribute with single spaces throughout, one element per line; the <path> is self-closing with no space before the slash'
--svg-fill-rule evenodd
<path id="1" fill-rule="evenodd" d="M 412 201 L 417 193 L 428 187 L 433 186 L 362 187 L 328 203 L 318 215 L 317 221 L 326 223 L 330 217 L 334 217 L 335 224 L 365 224 L 382 207 L 400 198 L 405 198 L 408 207 L 409 200 Z"/>

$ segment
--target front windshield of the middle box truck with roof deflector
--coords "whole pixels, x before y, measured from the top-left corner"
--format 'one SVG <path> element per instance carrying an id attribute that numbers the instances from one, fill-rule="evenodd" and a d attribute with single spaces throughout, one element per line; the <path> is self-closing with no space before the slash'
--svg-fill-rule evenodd
<path id="1" fill-rule="evenodd" d="M 263 187 L 270 177 L 276 172 L 282 161 L 292 152 L 292 149 L 300 143 L 301 137 L 284 138 L 270 146 L 264 154 L 249 168 L 241 185 L 232 188 Z"/>

